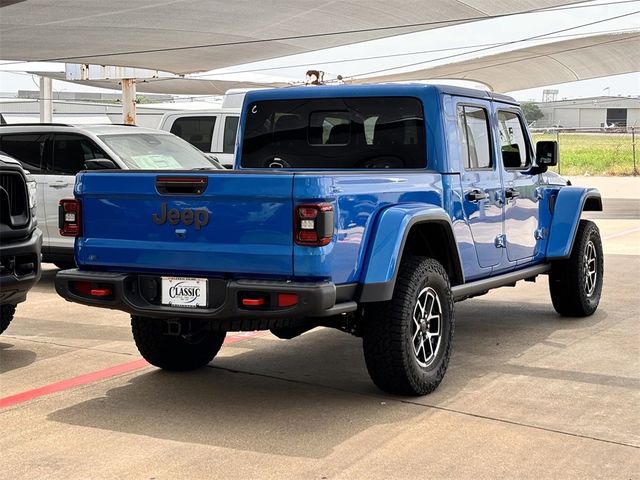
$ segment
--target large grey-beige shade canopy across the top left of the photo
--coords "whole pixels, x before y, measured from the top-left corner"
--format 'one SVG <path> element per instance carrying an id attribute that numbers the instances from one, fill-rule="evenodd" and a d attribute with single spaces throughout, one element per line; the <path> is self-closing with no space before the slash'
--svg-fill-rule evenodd
<path id="1" fill-rule="evenodd" d="M 2 0 L 0 58 L 183 74 L 572 3 Z"/>

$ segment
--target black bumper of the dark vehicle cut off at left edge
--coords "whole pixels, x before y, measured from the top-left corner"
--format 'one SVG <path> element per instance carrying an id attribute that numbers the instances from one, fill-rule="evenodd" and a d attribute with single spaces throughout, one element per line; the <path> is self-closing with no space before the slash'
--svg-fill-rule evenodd
<path id="1" fill-rule="evenodd" d="M 0 303 L 24 302 L 27 292 L 40 280 L 42 232 L 37 228 L 27 239 L 0 245 Z"/>

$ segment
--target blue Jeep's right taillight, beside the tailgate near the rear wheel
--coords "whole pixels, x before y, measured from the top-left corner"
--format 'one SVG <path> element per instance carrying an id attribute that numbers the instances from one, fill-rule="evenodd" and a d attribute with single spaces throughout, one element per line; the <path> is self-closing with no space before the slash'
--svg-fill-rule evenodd
<path id="1" fill-rule="evenodd" d="M 333 206 L 330 203 L 298 205 L 295 210 L 295 241 L 298 245 L 322 247 L 333 238 Z"/>

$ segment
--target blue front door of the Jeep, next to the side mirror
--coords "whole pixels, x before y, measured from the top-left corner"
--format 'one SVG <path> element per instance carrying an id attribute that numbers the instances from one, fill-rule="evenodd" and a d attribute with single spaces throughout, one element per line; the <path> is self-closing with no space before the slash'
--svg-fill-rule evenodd
<path id="1" fill-rule="evenodd" d="M 497 120 L 507 256 L 510 262 L 524 263 L 534 256 L 538 236 L 538 176 L 526 173 L 531 167 L 533 148 L 518 110 L 498 106 Z"/>

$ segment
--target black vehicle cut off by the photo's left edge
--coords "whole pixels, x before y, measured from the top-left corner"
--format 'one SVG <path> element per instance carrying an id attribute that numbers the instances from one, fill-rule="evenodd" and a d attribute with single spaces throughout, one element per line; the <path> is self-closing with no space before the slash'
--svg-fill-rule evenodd
<path id="1" fill-rule="evenodd" d="M 42 233 L 36 228 L 36 182 L 0 153 L 0 333 L 40 279 Z"/>

